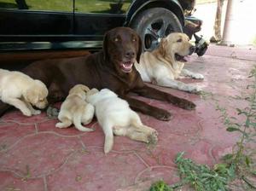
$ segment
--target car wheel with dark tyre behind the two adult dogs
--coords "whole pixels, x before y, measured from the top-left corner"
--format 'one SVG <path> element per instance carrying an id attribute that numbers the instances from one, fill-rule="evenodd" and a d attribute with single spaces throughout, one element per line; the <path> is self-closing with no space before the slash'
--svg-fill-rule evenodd
<path id="1" fill-rule="evenodd" d="M 131 28 L 142 38 L 144 51 L 155 49 L 171 32 L 183 32 L 177 16 L 164 8 L 144 10 L 132 21 Z"/>

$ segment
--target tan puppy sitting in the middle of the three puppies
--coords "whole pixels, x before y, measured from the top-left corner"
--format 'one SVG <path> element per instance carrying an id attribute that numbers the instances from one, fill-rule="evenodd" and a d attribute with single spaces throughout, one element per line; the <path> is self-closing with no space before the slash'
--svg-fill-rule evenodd
<path id="1" fill-rule="evenodd" d="M 82 125 L 90 124 L 94 116 L 94 107 L 85 101 L 86 92 L 89 90 L 83 84 L 77 84 L 69 90 L 66 100 L 61 104 L 61 111 L 58 115 L 61 122 L 55 124 L 55 127 L 67 128 L 74 124 L 81 131 L 93 130 Z"/>

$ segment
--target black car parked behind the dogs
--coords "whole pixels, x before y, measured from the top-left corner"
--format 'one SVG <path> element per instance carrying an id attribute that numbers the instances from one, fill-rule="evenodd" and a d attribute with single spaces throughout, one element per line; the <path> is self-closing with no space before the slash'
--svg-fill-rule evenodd
<path id="1" fill-rule="evenodd" d="M 152 50 L 183 31 L 187 0 L 0 0 L 0 50 L 99 49 L 105 32 L 130 26 Z"/>

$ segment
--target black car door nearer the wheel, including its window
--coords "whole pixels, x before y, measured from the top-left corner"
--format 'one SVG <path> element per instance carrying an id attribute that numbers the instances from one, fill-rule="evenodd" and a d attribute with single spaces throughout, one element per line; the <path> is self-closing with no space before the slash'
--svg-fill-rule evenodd
<path id="1" fill-rule="evenodd" d="M 131 0 L 75 0 L 75 35 L 101 45 L 105 32 L 124 25 L 125 14 L 131 2 Z"/>

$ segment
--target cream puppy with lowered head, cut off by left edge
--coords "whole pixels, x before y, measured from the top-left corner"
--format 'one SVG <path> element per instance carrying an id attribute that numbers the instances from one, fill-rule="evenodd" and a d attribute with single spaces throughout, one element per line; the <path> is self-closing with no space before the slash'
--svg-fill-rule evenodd
<path id="1" fill-rule="evenodd" d="M 34 80 L 22 72 L 0 69 L 0 100 L 20 109 L 26 116 L 38 115 L 48 101 L 48 90 L 44 83 Z"/>

